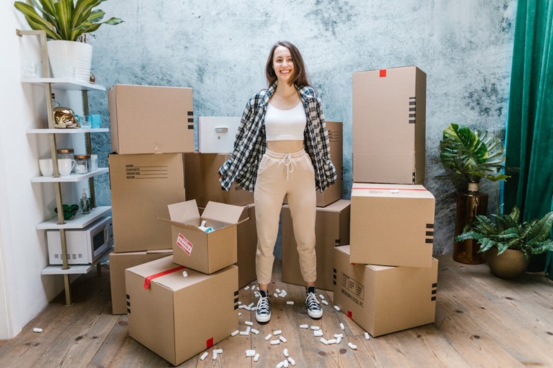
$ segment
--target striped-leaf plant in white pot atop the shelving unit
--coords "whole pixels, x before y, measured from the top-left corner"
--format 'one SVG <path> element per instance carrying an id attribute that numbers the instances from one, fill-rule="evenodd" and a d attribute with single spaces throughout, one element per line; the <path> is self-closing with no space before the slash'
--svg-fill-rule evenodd
<path id="1" fill-rule="evenodd" d="M 104 11 L 95 9 L 106 0 L 30 0 L 32 6 L 15 1 L 33 30 L 44 30 L 48 38 L 48 59 L 53 76 L 89 81 L 91 78 L 92 46 L 86 35 L 102 24 L 119 24 L 122 19 L 106 21 Z"/>

